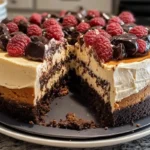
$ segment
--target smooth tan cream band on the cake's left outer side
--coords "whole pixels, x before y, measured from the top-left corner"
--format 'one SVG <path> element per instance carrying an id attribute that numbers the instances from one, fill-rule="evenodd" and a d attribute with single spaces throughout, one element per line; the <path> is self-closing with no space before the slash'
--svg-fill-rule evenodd
<path id="1" fill-rule="evenodd" d="M 0 86 L 9 89 L 34 87 L 39 62 L 22 57 L 10 57 L 0 52 Z"/>

